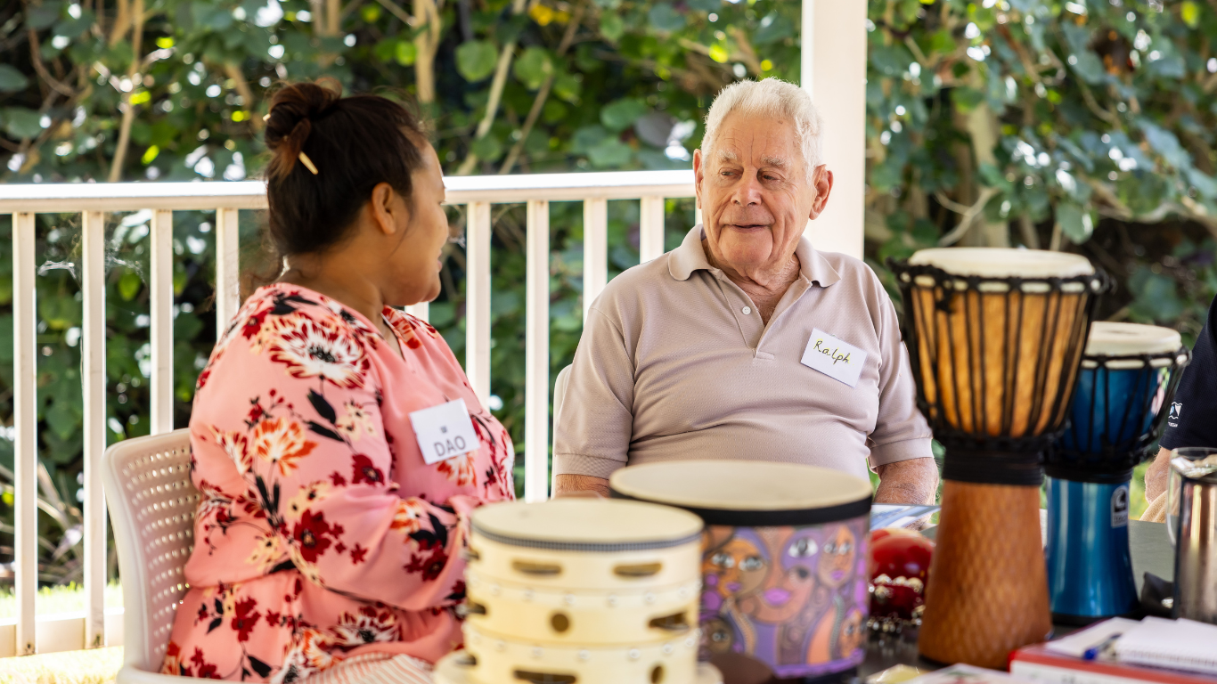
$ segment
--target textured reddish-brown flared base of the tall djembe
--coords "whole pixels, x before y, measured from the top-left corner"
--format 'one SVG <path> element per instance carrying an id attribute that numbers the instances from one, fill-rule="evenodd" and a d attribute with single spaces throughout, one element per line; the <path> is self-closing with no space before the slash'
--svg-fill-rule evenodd
<path id="1" fill-rule="evenodd" d="M 918 650 L 1005 669 L 1051 632 L 1039 488 L 947 480 Z"/>

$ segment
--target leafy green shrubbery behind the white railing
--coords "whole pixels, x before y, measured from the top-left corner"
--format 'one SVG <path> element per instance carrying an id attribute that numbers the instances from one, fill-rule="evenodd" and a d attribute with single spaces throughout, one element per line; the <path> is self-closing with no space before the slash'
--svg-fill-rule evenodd
<path id="1" fill-rule="evenodd" d="M 448 174 L 688 168 L 713 95 L 798 82 L 780 0 L 15 0 L 0 9 L 0 180 L 253 178 L 268 94 L 338 78 L 433 122 Z M 1217 292 L 1217 4 L 870 0 L 867 256 L 932 245 L 1083 253 L 1111 320 L 1194 341 Z M 824 102 L 821 106 L 831 106 Z M 667 243 L 692 225 L 667 204 Z M 108 439 L 147 432 L 150 215 L 108 218 Z M 241 217 L 258 264 L 263 217 Z M 214 214 L 174 215 L 175 422 L 215 337 Z M 454 236 L 461 208 L 450 211 Z M 551 376 L 582 327 L 582 211 L 551 206 Z M 40 570 L 80 578 L 80 218 L 38 218 Z M 0 421 L 12 424 L 11 224 L 0 218 Z M 523 445 L 522 206 L 494 207 L 492 408 Z M 638 204 L 610 203 L 610 276 L 638 263 Z M 464 348 L 464 251 L 432 321 Z M 0 437 L 11 557 L 12 428 Z M 113 556 L 111 556 L 113 557 Z"/>

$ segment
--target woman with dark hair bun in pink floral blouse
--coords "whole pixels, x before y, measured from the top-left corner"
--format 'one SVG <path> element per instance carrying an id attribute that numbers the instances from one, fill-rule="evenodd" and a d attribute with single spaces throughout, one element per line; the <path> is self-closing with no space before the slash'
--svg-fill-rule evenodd
<path id="1" fill-rule="evenodd" d="M 163 672 L 430 682 L 461 643 L 469 512 L 515 490 L 506 431 L 394 308 L 439 293 L 439 159 L 404 107 L 336 83 L 280 90 L 265 136 L 284 273 L 198 376 L 202 500 Z"/>

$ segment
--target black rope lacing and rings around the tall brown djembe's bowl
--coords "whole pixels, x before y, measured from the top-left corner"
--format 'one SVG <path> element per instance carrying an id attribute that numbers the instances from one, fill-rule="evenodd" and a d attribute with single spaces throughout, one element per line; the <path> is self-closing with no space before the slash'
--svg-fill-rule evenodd
<path id="1" fill-rule="evenodd" d="M 947 450 L 942 477 L 976 483 L 1038 486 L 1044 452 L 1065 431 L 1087 331 L 1098 297 L 1111 288 L 1111 279 L 1101 270 L 1070 277 L 998 277 L 957 275 L 932 265 L 909 265 L 894 258 L 888 258 L 887 265 L 897 276 L 903 299 L 901 329 L 916 381 L 918 409 Z M 914 288 L 930 292 L 932 307 L 914 307 Z M 986 354 L 983 332 L 986 309 L 992 308 L 996 296 L 1003 296 L 1003 301 L 997 313 L 999 319 L 991 323 L 1004 326 L 1005 340 L 988 341 L 999 344 L 1003 352 L 999 366 L 988 368 L 986 361 L 992 360 L 993 354 Z M 1027 312 L 1027 296 L 1044 297 L 1039 321 Z M 1066 297 L 1076 301 L 1067 302 Z M 1058 337 L 1065 332 L 1060 330 L 1065 314 L 1072 314 L 1073 330 L 1067 331 L 1061 343 Z M 966 331 L 964 344 L 957 344 L 953 333 L 953 325 L 960 319 Z M 1039 324 L 1038 340 L 1022 338 L 1025 321 Z M 924 340 L 924 335 L 931 338 Z M 942 340 L 937 340 L 940 335 Z M 925 352 L 921 344 L 927 346 Z M 940 358 L 942 353 L 946 358 Z M 1062 359 L 1055 369 L 1061 377 L 1056 379 L 1055 391 L 1049 394 L 1049 374 L 1054 372 L 1056 355 Z M 1030 372 L 1021 365 L 1022 357 L 1033 357 Z M 966 372 L 958 372 L 960 369 Z M 998 375 L 991 377 L 991 374 Z M 1017 389 L 1022 388 L 1028 375 L 1033 403 L 1016 407 Z M 999 381 L 999 397 L 989 396 L 991 380 Z M 927 382 L 932 388 L 932 399 L 926 396 Z M 943 391 L 944 387 L 948 392 Z M 953 399 L 949 403 L 944 400 L 947 394 Z M 970 400 L 964 402 L 961 397 Z M 1022 409 L 1027 409 L 1026 415 L 1016 421 L 1016 411 Z M 994 414 L 998 415 L 997 421 L 992 420 Z M 952 416 L 958 426 L 949 421 Z M 1021 424 L 1017 433 L 1016 424 Z"/>

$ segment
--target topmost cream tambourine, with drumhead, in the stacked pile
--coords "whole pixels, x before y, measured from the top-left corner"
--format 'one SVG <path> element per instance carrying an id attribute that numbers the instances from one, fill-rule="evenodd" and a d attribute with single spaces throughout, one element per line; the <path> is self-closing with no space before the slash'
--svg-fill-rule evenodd
<path id="1" fill-rule="evenodd" d="M 697 577 L 701 520 L 667 506 L 517 501 L 478 509 L 472 522 L 469 568 L 483 581 L 607 593 L 674 588 Z M 487 583 L 478 594 L 492 589 Z"/>

